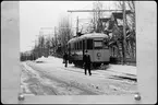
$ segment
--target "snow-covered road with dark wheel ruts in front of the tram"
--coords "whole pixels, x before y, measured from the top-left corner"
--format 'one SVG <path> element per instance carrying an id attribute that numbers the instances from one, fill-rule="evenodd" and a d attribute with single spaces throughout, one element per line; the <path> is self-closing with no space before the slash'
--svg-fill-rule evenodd
<path id="1" fill-rule="evenodd" d="M 25 94 L 34 95 L 124 95 L 136 92 L 136 75 L 110 70 L 84 70 L 69 65 L 64 68 L 58 58 L 42 63 L 22 62 L 21 85 Z M 111 68 L 111 67 L 110 67 Z"/>

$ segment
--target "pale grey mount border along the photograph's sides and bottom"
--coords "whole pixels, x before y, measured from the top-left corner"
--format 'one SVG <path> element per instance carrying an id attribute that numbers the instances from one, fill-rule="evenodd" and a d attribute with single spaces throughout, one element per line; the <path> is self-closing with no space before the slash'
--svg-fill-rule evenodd
<path id="1" fill-rule="evenodd" d="M 19 1 L 1 3 L 1 101 L 7 103 L 36 104 L 156 104 L 157 103 L 157 3 L 155 1 L 136 1 L 136 61 L 138 92 L 142 100 L 133 95 L 107 96 L 25 96 L 20 102 L 20 26 Z"/>

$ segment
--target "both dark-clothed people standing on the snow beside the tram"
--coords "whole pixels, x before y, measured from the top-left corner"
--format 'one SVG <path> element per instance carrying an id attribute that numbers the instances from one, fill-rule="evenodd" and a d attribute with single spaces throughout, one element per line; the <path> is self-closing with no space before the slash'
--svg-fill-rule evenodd
<path id="1" fill-rule="evenodd" d="M 63 62 L 65 63 L 64 67 L 66 68 L 68 67 L 68 54 L 64 52 L 63 55 Z M 84 69 L 85 69 L 85 74 L 87 74 L 87 70 L 88 70 L 88 73 L 89 75 L 92 75 L 92 71 L 90 71 L 90 56 L 88 55 L 87 50 L 85 51 L 85 55 L 83 57 L 83 62 L 84 62 Z"/>

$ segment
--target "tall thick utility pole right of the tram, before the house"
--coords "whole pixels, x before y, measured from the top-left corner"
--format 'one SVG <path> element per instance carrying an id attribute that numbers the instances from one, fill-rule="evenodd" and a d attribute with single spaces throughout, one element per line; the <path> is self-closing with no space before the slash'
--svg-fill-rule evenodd
<path id="1" fill-rule="evenodd" d="M 125 16 L 125 2 L 123 1 L 122 4 L 123 9 L 123 65 L 126 61 L 126 16 Z"/>

